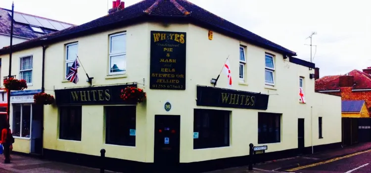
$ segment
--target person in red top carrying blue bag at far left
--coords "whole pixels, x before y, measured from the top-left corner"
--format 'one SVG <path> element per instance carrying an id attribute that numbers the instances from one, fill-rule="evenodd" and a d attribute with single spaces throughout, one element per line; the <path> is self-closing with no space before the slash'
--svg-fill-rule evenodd
<path id="1" fill-rule="evenodd" d="M 1 130 L 1 144 L 4 147 L 4 163 L 8 164 L 10 163 L 10 150 L 13 147 L 14 138 L 11 133 L 11 130 L 9 129 L 10 125 L 9 123 L 5 123 L 5 126 Z"/>

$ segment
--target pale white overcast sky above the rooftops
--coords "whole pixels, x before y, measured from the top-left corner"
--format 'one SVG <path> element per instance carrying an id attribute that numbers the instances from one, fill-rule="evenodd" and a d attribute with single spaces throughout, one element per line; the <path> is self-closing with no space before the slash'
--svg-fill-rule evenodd
<path id="1" fill-rule="evenodd" d="M 0 0 L 0 7 L 75 25 L 107 14 L 112 0 Z M 140 0 L 125 0 L 125 6 Z M 274 43 L 312 59 L 320 77 L 371 66 L 367 0 L 189 0 Z"/>

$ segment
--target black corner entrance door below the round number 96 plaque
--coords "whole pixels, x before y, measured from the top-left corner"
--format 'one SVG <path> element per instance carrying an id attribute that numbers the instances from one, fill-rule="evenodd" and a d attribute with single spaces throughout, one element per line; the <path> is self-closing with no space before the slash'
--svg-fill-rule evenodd
<path id="1" fill-rule="evenodd" d="M 159 168 L 169 170 L 179 164 L 180 126 L 179 115 L 155 115 L 154 163 Z"/>

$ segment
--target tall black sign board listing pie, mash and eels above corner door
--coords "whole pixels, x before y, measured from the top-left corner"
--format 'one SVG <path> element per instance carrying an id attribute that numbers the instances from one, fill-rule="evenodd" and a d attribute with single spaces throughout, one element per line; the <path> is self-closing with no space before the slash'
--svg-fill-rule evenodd
<path id="1" fill-rule="evenodd" d="M 151 89 L 185 90 L 186 33 L 151 31 Z"/>

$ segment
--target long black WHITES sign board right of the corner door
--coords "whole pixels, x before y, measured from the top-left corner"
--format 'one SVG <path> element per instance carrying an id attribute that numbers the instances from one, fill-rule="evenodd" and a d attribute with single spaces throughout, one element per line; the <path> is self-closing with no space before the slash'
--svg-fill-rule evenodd
<path id="1" fill-rule="evenodd" d="M 267 94 L 197 86 L 197 106 L 267 110 L 268 99 Z"/>

